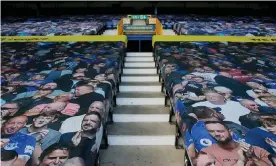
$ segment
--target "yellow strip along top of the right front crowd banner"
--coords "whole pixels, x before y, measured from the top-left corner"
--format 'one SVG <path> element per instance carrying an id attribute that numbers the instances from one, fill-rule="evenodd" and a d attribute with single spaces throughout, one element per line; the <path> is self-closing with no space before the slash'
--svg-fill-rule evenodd
<path id="1" fill-rule="evenodd" d="M 254 43 L 276 43 L 276 37 L 251 37 L 251 36 L 162 36 L 154 35 L 152 45 L 155 42 L 181 42 L 181 41 L 202 41 L 202 42 L 254 42 Z"/>

